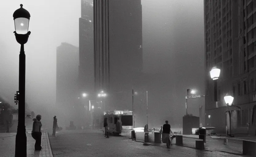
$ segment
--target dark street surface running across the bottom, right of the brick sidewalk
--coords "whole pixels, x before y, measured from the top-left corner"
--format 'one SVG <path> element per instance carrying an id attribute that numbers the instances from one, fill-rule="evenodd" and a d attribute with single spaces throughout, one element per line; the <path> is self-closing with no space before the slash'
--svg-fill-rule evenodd
<path id="1" fill-rule="evenodd" d="M 158 146 L 143 146 L 142 143 L 123 136 L 105 138 L 97 130 L 61 131 L 49 139 L 54 157 L 238 157 L 217 151 L 200 151 L 173 145 L 170 149 Z"/>

